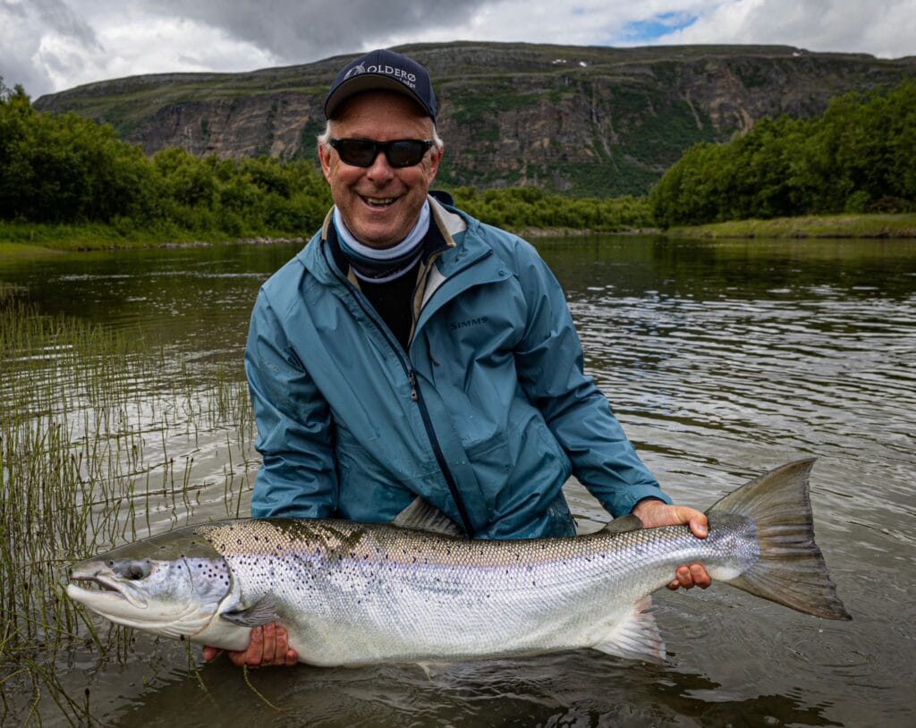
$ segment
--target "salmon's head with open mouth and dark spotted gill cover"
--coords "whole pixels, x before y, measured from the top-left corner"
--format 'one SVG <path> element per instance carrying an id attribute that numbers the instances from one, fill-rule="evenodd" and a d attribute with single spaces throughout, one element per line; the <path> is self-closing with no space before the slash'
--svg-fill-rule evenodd
<path id="1" fill-rule="evenodd" d="M 67 595 L 118 625 L 191 637 L 232 591 L 224 558 L 191 528 L 127 544 L 71 567 Z"/>

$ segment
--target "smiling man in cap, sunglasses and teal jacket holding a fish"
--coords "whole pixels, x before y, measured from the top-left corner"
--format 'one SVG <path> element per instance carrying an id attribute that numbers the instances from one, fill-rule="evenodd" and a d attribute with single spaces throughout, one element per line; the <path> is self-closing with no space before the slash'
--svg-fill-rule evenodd
<path id="1" fill-rule="evenodd" d="M 324 111 L 334 207 L 261 289 L 245 353 L 264 458 L 252 515 L 387 522 L 420 496 L 470 538 L 566 536 L 575 473 L 614 516 L 703 538 L 705 516 L 671 505 L 583 375 L 540 256 L 431 196 L 442 141 L 427 71 L 373 51 Z M 670 587 L 709 581 L 692 564 Z M 230 657 L 297 656 L 267 625 Z"/>

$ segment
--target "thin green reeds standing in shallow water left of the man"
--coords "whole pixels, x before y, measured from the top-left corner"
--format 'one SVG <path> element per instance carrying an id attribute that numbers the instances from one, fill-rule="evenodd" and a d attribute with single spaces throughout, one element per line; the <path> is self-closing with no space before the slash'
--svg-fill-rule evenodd
<path id="1" fill-rule="evenodd" d="M 0 290 L 0 723 L 94 721 L 73 651 L 118 657 L 128 636 L 66 597 L 73 560 L 240 513 L 256 467 L 240 368 Z"/>

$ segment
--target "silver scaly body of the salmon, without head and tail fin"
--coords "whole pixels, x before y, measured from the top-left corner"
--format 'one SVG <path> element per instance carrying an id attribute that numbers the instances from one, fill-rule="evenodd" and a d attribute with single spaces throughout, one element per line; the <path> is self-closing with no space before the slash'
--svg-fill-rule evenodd
<path id="1" fill-rule="evenodd" d="M 747 530 L 747 529 L 746 529 Z M 197 531 L 243 606 L 273 595 L 309 662 L 516 655 L 596 645 L 682 563 L 747 567 L 735 529 L 483 541 L 350 521 L 248 520 Z M 740 533 L 737 534 L 740 539 Z"/>

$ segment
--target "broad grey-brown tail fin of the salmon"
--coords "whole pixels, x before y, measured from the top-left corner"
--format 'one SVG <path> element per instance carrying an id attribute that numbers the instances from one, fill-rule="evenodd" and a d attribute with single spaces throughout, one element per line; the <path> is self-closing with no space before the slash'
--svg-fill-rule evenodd
<path id="1" fill-rule="evenodd" d="M 727 580 L 738 589 L 824 619 L 852 619 L 836 595 L 821 549 L 814 543 L 808 478 L 814 459 L 789 462 L 725 495 L 706 515 L 745 516 L 754 522 L 756 563 Z"/>

